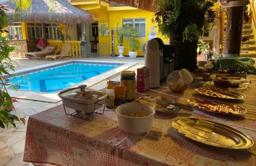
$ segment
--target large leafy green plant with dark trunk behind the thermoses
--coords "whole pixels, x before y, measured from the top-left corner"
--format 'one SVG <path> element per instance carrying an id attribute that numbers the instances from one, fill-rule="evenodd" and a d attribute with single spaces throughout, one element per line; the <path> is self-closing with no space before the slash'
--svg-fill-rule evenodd
<path id="1" fill-rule="evenodd" d="M 197 44 L 201 31 L 215 21 L 213 6 L 217 0 L 156 0 L 155 20 L 159 32 L 175 46 L 175 70 L 197 69 Z"/>

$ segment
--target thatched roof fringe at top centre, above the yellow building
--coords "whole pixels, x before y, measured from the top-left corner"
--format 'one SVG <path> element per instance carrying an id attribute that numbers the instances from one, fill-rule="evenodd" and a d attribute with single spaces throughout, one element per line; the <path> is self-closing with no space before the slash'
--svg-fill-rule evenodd
<path id="1" fill-rule="evenodd" d="M 89 1 L 89 0 L 71 0 L 71 2 Z M 157 1 L 156 0 L 104 0 L 105 2 L 115 2 L 116 4 L 124 4 L 134 8 L 139 8 L 147 11 L 156 11 Z M 139 3 L 137 6 L 135 2 Z"/>

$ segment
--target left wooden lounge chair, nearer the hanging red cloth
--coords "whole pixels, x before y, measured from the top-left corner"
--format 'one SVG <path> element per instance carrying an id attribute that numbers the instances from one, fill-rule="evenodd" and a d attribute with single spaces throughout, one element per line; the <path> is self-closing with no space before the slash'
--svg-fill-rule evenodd
<path id="1" fill-rule="evenodd" d="M 43 51 L 29 52 L 26 53 L 26 58 L 42 59 L 43 56 L 52 55 L 55 52 L 57 46 L 46 46 Z"/>

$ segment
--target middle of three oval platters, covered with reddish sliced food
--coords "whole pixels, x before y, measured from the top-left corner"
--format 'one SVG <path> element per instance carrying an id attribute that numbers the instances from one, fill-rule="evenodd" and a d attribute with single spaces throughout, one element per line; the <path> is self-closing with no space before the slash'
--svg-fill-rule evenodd
<path id="1" fill-rule="evenodd" d="M 242 114 L 245 112 L 243 108 L 238 107 L 235 104 L 221 103 L 206 99 L 189 99 L 188 104 L 196 108 L 218 113 Z"/>

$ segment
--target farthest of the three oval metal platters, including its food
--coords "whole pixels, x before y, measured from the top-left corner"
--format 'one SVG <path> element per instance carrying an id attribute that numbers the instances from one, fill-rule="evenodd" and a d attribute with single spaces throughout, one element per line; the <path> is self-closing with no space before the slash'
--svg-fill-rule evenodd
<path id="1" fill-rule="evenodd" d="M 215 87 L 211 88 L 198 88 L 195 91 L 199 94 L 209 97 L 222 98 L 222 99 L 243 99 L 245 96 L 243 94 L 231 91 L 225 91 L 221 89 L 217 89 Z"/>

